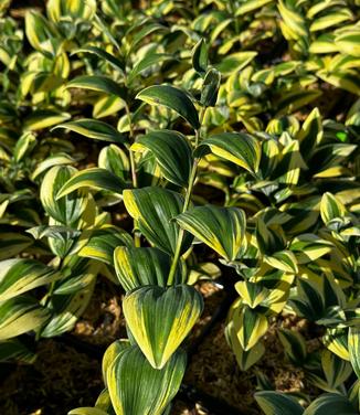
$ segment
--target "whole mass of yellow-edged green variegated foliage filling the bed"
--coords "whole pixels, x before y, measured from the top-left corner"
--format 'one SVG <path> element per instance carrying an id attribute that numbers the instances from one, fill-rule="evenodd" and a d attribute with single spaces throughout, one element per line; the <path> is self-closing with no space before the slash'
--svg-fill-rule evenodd
<path id="1" fill-rule="evenodd" d="M 8 3 L 0 360 L 32 362 L 29 333 L 72 330 L 107 277 L 128 339 L 104 355 L 95 406 L 71 414 L 168 414 L 203 309 L 194 284 L 231 273 L 240 370 L 275 323 L 326 392 L 310 403 L 260 374 L 264 413 L 358 414 L 359 2 L 49 0 L 23 21 Z M 317 328 L 315 351 L 285 311 Z"/>

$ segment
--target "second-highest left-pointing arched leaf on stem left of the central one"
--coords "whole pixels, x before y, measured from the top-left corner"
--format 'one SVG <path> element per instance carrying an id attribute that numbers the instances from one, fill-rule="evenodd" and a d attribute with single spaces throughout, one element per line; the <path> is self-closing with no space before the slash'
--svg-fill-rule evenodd
<path id="1" fill-rule="evenodd" d="M 66 85 L 67 88 L 83 88 L 97 91 L 99 93 L 116 95 L 121 99 L 126 99 L 126 88 L 117 82 L 100 75 L 82 75 L 72 79 Z"/>

